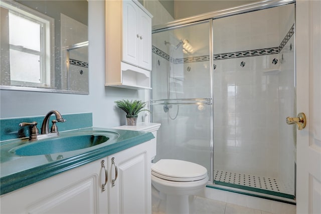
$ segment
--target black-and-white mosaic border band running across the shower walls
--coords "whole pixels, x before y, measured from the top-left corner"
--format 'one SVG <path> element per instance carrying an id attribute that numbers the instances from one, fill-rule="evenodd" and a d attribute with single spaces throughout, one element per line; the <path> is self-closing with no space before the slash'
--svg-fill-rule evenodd
<path id="1" fill-rule="evenodd" d="M 225 59 L 233 59 L 233 58 L 241 58 L 241 57 L 253 57 L 253 56 L 262 56 L 262 55 L 270 55 L 270 54 L 278 54 L 284 48 L 285 44 L 289 41 L 289 39 L 294 34 L 294 24 L 287 32 L 286 36 L 282 40 L 281 44 L 278 47 L 273 48 L 264 48 L 264 49 L 256 49 L 256 50 L 249 50 L 249 51 L 239 51 L 239 52 L 231 52 L 231 53 L 223 53 L 223 54 L 214 54 L 214 60 L 225 60 Z M 198 56 L 198 57 L 187 57 L 187 58 L 180 58 L 180 59 L 172 59 L 170 55 L 165 53 L 164 51 L 152 46 L 151 48 L 152 53 L 157 54 L 160 57 L 170 61 L 173 61 L 174 64 L 182 64 L 182 63 L 193 63 L 193 62 L 204 62 L 209 61 L 210 56 Z"/>

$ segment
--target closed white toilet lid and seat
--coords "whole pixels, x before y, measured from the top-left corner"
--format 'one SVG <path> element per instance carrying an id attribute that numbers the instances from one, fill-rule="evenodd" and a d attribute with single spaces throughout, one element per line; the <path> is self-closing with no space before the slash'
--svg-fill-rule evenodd
<path id="1" fill-rule="evenodd" d="M 172 181 L 195 181 L 207 177 L 207 169 L 196 163 L 161 159 L 151 166 L 151 174 Z"/>

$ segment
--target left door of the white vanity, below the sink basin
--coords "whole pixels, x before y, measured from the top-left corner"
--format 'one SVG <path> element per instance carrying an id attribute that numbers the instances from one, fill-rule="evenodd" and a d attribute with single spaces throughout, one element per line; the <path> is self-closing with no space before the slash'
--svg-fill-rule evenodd
<path id="1" fill-rule="evenodd" d="M 105 172 L 96 160 L 2 195 L 1 213 L 107 213 L 101 179 Z"/>

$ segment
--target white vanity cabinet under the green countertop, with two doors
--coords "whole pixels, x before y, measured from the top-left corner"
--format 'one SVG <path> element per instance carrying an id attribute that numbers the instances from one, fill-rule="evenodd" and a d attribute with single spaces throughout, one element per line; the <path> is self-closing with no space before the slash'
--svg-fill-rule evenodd
<path id="1" fill-rule="evenodd" d="M 147 141 L 1 195 L 1 213 L 150 213 L 154 149 Z"/>

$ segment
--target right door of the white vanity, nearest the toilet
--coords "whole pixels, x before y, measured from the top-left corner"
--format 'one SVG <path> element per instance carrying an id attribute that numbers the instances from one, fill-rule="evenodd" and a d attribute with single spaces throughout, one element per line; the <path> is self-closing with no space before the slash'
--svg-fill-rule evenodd
<path id="1" fill-rule="evenodd" d="M 149 144 L 139 144 L 108 157 L 110 213 L 151 213 Z"/>

